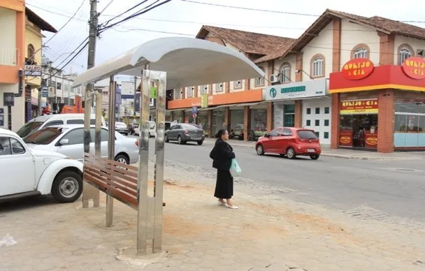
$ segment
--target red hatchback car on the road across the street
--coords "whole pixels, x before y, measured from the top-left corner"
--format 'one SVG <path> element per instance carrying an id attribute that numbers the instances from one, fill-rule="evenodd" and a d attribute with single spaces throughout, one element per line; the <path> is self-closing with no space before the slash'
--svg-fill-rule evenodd
<path id="1" fill-rule="evenodd" d="M 294 159 L 297 155 L 310 156 L 311 159 L 319 159 L 322 153 L 319 138 L 315 131 L 301 128 L 281 127 L 259 138 L 255 145 L 258 155 L 264 153 L 286 155 Z"/>

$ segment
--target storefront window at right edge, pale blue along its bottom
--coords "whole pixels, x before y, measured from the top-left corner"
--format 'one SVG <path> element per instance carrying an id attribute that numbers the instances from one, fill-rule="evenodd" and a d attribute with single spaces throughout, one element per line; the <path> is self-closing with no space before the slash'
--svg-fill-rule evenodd
<path id="1" fill-rule="evenodd" d="M 425 103 L 398 100 L 395 109 L 394 147 L 400 149 L 425 147 Z"/>

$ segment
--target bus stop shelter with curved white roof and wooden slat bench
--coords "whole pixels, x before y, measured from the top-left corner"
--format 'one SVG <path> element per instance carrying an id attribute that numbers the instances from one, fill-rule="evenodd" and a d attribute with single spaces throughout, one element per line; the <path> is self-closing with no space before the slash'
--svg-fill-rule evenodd
<path id="1" fill-rule="evenodd" d="M 115 75 L 142 78 L 141 135 L 138 167 L 115 162 Z M 263 71 L 240 52 L 196 38 L 157 38 L 90 68 L 74 80 L 73 87 L 86 86 L 85 167 L 82 205 L 88 200 L 99 206 L 99 191 L 106 193 L 106 226 L 113 222 L 113 198 L 138 212 L 137 254 L 161 251 L 164 183 L 164 129 L 166 89 L 264 77 Z M 109 78 L 108 158 L 101 157 L 102 95 L 93 91 L 94 82 Z M 150 89 L 157 86 L 157 138 L 155 140 L 154 193 L 148 195 Z M 94 154 L 89 153 L 92 99 L 96 101 Z M 87 185 L 89 184 L 89 185 Z"/>

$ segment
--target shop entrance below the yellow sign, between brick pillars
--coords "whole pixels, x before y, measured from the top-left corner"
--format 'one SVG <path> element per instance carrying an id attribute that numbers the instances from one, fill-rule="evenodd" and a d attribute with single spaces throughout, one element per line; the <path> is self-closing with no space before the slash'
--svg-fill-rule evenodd
<path id="1" fill-rule="evenodd" d="M 376 149 L 377 133 L 377 114 L 340 116 L 340 147 Z"/>

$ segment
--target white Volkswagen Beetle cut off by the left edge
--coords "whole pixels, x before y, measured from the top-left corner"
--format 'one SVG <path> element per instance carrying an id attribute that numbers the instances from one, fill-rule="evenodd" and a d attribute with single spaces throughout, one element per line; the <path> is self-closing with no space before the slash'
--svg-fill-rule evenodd
<path id="1" fill-rule="evenodd" d="M 57 152 L 31 150 L 20 136 L 0 128 L 0 201 L 52 194 L 60 203 L 82 192 L 82 163 Z"/>

